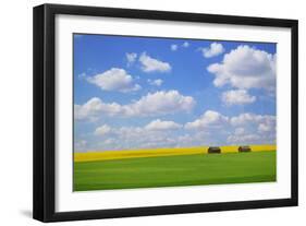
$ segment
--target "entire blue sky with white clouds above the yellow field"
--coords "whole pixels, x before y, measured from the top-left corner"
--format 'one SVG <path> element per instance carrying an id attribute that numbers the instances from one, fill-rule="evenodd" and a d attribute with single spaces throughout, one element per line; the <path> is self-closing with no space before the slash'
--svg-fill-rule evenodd
<path id="1" fill-rule="evenodd" d="M 276 44 L 73 38 L 76 152 L 276 143 Z"/>

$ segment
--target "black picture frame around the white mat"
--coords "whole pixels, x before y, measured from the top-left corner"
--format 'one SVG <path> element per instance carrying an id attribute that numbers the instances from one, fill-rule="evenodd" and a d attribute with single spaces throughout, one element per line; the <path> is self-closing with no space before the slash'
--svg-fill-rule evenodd
<path id="1" fill-rule="evenodd" d="M 57 14 L 146 19 L 181 22 L 197 22 L 225 25 L 254 25 L 286 27 L 291 29 L 291 198 L 259 201 L 182 204 L 167 206 L 95 210 L 81 212 L 56 212 L 56 78 L 54 78 L 54 16 Z M 296 20 L 212 15 L 166 11 L 112 9 L 42 4 L 34 8 L 34 189 L 33 217 L 41 222 L 97 219 L 112 217 L 182 214 L 196 212 L 230 211 L 297 205 L 298 193 L 298 78 L 297 48 L 298 22 Z M 289 94 L 290 95 L 290 94 Z"/>

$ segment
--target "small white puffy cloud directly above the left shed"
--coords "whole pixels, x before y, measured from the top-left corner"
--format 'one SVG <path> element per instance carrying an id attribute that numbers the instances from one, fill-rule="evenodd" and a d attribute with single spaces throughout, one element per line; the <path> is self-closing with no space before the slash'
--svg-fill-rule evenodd
<path id="1" fill-rule="evenodd" d="M 185 124 L 186 129 L 220 128 L 229 121 L 229 118 L 213 110 L 207 110 L 199 119 Z"/>

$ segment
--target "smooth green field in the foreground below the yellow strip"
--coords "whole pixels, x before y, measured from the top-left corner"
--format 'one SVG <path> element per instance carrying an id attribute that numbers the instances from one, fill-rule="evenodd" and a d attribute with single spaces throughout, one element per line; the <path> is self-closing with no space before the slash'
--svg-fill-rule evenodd
<path id="1" fill-rule="evenodd" d="M 75 162 L 74 191 L 276 181 L 276 152 Z"/>

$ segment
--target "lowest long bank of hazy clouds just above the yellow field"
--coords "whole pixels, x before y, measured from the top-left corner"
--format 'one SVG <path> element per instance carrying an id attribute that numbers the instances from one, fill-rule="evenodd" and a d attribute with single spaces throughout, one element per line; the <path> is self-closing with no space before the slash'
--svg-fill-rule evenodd
<path id="1" fill-rule="evenodd" d="M 241 114 L 229 117 L 207 110 L 185 126 L 157 118 L 137 127 L 102 124 L 94 134 L 99 139 L 95 145 L 98 143 L 103 150 L 272 144 L 276 143 L 276 116 Z M 94 148 L 98 150 L 98 146 Z"/>

